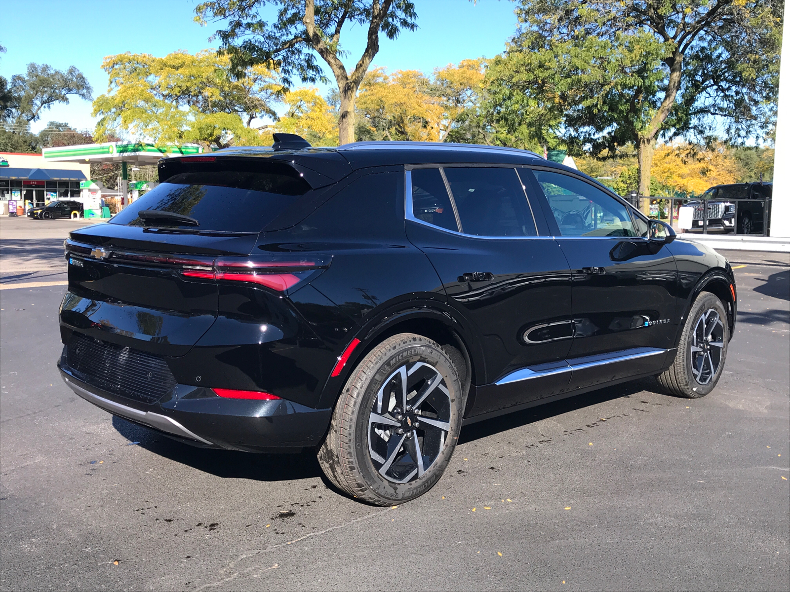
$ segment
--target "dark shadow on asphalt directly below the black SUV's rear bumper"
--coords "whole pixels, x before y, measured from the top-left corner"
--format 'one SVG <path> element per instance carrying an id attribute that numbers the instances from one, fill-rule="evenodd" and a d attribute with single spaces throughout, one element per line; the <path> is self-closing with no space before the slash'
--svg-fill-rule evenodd
<path id="1" fill-rule="evenodd" d="M 112 425 L 130 442 L 137 442 L 137 445 L 154 454 L 216 477 L 255 481 L 323 478 L 313 451 L 277 455 L 194 448 L 119 417 L 112 418 Z"/>

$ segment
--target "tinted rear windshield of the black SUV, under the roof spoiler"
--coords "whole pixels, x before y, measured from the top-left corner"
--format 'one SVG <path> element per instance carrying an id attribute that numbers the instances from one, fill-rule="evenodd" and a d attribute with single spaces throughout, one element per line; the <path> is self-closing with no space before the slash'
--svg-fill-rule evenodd
<path id="1" fill-rule="evenodd" d="M 310 185 L 289 167 L 261 171 L 254 170 L 255 165 L 260 167 L 258 163 L 241 166 L 231 163 L 233 170 L 224 167 L 223 170 L 220 163 L 199 166 L 202 170 L 194 170 L 198 165 L 181 167 L 155 189 L 113 216 L 110 223 L 152 226 L 150 221 L 146 223 L 140 219 L 137 212 L 161 210 L 187 215 L 198 220 L 200 226 L 181 226 L 177 221 L 163 223 L 160 220 L 156 227 L 260 232 L 299 196 L 307 193 Z"/>

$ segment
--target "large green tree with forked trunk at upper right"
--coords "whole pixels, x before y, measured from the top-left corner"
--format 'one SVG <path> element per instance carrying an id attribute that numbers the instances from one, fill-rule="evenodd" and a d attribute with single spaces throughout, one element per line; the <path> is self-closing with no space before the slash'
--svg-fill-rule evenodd
<path id="1" fill-rule="evenodd" d="M 597 155 L 637 148 L 649 193 L 658 137 L 732 139 L 776 118 L 782 0 L 521 0 L 489 69 L 498 141 Z"/>

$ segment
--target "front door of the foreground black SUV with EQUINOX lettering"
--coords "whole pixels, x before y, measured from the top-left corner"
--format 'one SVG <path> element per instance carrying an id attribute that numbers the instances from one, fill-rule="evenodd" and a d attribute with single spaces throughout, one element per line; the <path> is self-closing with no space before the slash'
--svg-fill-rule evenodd
<path id="1" fill-rule="evenodd" d="M 570 390 L 659 371 L 679 323 L 672 253 L 643 236 L 647 223 L 636 227 L 626 204 L 581 176 L 532 175 L 571 270 Z"/>

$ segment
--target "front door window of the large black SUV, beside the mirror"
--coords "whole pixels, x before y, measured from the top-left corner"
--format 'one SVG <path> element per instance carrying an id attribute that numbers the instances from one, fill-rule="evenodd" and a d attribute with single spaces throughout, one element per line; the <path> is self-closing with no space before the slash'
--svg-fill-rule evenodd
<path id="1" fill-rule="evenodd" d="M 638 236 L 626 206 L 566 174 L 533 170 L 562 236 Z"/>

